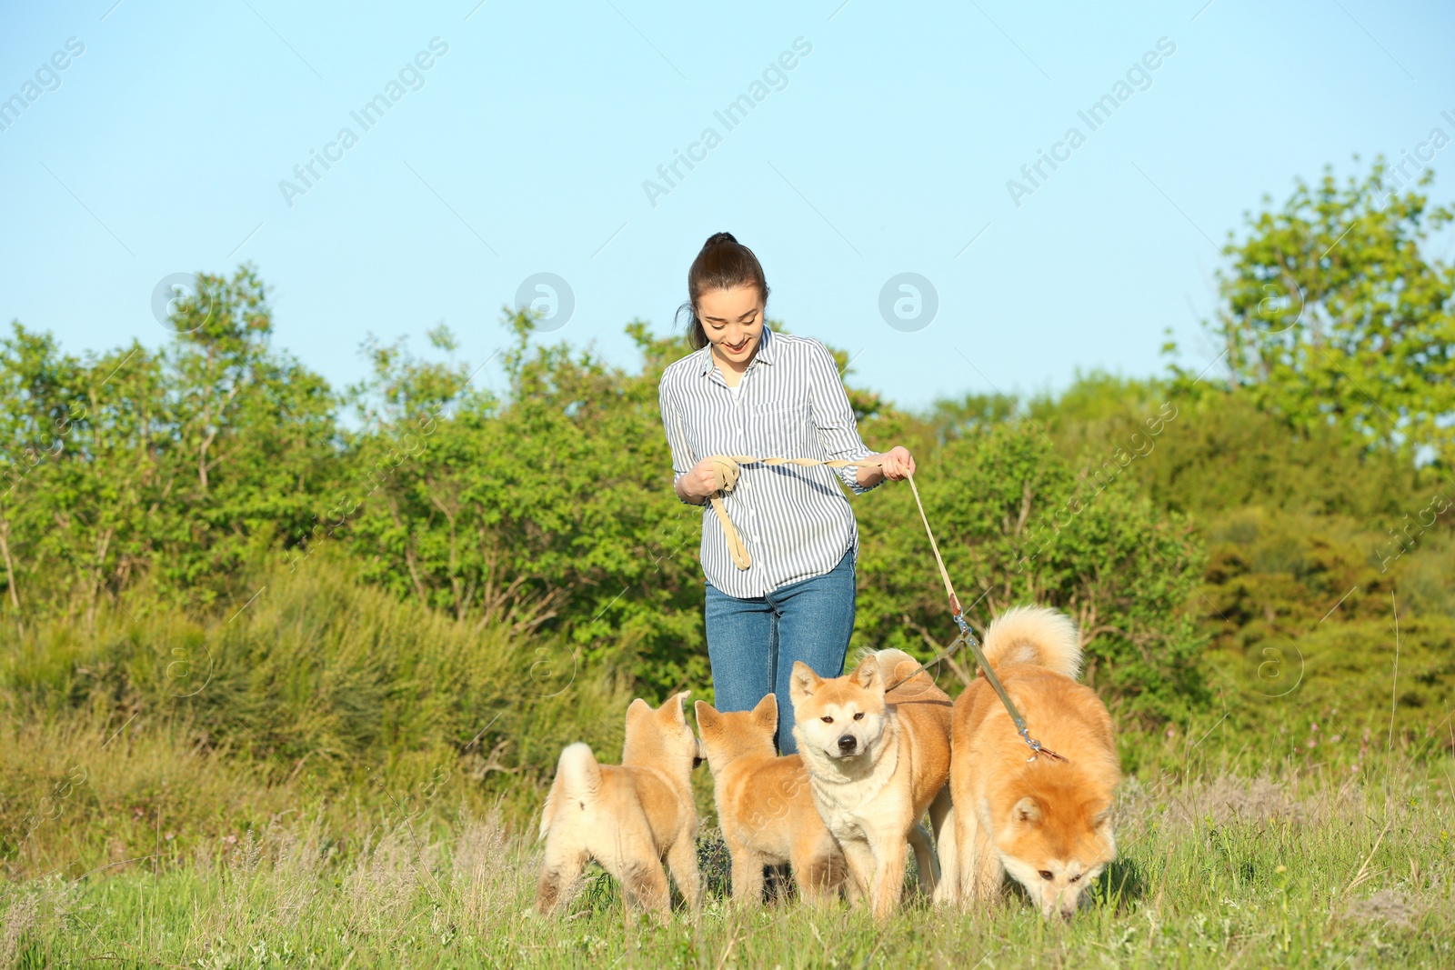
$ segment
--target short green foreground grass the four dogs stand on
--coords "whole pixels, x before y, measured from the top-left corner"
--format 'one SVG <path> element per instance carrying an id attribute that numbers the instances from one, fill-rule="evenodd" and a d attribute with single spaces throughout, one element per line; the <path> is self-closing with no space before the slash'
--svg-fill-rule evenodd
<path id="1" fill-rule="evenodd" d="M 1385 771 L 1388 768 L 1388 771 Z M 358 841 L 322 816 L 77 878 L 0 889 L 0 966 L 186 967 L 1440 967 L 1455 963 L 1451 765 L 1395 755 L 1260 778 L 1129 779 L 1119 861 L 1096 905 L 1046 925 L 1014 890 L 968 913 L 909 897 L 860 909 L 627 912 L 588 874 L 559 919 L 530 915 L 538 845 L 499 814 L 380 819 Z"/>

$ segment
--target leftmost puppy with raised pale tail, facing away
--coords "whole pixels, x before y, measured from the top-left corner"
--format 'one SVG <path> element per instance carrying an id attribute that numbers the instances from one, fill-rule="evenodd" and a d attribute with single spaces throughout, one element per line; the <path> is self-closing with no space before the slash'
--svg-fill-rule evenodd
<path id="1" fill-rule="evenodd" d="M 537 912 L 550 913 L 563 903 L 592 858 L 621 883 L 629 900 L 666 918 L 665 859 L 687 906 L 697 909 L 701 878 L 691 774 L 700 747 L 682 713 L 690 692 L 655 711 L 640 698 L 631 701 L 620 766 L 598 765 L 582 743 L 560 753 L 541 813 L 546 859 L 535 890 Z"/>

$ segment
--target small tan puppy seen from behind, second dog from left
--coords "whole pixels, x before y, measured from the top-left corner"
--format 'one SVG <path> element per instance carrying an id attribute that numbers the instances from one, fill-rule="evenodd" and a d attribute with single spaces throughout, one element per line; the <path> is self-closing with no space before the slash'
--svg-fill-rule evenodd
<path id="1" fill-rule="evenodd" d="M 805 900 L 834 899 L 847 864 L 813 806 L 803 758 L 774 752 L 778 698 L 768 694 L 751 711 L 722 714 L 704 701 L 695 708 L 716 782 L 717 823 L 732 855 L 733 899 L 757 906 L 762 867 L 784 862 Z"/>

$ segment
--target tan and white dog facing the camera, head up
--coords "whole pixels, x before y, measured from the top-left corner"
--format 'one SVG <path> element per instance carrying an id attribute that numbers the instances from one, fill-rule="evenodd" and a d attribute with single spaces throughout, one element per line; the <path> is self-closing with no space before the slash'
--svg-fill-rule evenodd
<path id="1" fill-rule="evenodd" d="M 940 838 L 950 810 L 950 698 L 902 650 L 879 650 L 853 673 L 824 679 L 793 665 L 793 737 L 809 769 L 813 803 L 848 859 L 856 889 L 886 919 L 904 889 L 905 842 L 920 886 L 934 891 L 938 867 L 920 825 L 925 810 Z"/>

